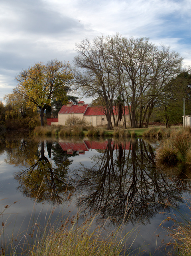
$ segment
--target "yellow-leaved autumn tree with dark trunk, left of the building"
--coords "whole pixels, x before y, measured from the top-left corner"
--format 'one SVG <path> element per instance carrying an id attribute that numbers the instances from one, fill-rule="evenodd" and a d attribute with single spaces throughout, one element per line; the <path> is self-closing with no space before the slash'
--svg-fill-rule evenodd
<path id="1" fill-rule="evenodd" d="M 35 63 L 22 70 L 15 79 L 18 81 L 16 92 L 28 99 L 28 104 L 40 110 L 41 126 L 44 125 L 44 110 L 53 99 L 67 101 L 65 86 L 73 78 L 69 63 L 57 59 L 44 64 Z"/>

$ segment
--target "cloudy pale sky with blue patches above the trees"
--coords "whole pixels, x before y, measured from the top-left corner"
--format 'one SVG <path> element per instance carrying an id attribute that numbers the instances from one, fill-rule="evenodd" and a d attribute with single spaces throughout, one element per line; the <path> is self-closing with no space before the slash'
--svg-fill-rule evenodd
<path id="1" fill-rule="evenodd" d="M 170 46 L 191 66 L 191 0 L 0 0 L 0 100 L 20 71 L 55 58 L 72 65 L 75 44 L 116 33 Z"/>

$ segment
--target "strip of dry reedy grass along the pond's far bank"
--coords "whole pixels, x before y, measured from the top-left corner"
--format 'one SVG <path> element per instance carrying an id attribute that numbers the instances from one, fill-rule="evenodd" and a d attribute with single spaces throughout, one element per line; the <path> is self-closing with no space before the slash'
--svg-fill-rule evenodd
<path id="1" fill-rule="evenodd" d="M 161 126 L 149 128 L 114 128 L 114 130 L 106 130 L 105 128 L 93 127 L 65 127 L 65 126 L 38 126 L 34 129 L 34 134 L 37 136 L 87 136 L 87 137 L 143 137 L 143 138 L 163 138 L 168 137 L 169 133 L 179 127 L 169 129 Z"/>

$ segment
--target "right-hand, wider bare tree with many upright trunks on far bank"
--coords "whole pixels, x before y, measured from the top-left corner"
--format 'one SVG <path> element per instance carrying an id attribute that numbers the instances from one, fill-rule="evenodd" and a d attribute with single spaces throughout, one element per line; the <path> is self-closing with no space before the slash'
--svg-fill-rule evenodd
<path id="1" fill-rule="evenodd" d="M 155 46 L 148 38 L 124 38 L 118 34 L 107 39 L 108 51 L 126 94 L 131 127 L 147 125 L 158 97 L 166 84 L 181 70 L 182 58 L 169 47 Z"/>

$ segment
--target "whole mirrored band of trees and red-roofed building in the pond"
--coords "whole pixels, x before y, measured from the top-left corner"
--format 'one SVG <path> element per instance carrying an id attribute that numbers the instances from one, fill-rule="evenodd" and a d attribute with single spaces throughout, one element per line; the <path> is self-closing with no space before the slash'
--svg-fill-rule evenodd
<path id="1" fill-rule="evenodd" d="M 14 177 L 24 196 L 54 204 L 75 197 L 85 214 L 99 212 L 100 218 L 111 216 L 113 223 L 149 223 L 169 208 L 168 202 L 176 206 L 181 193 L 191 188 L 190 169 L 177 166 L 174 172 L 159 163 L 156 168 L 155 144 L 142 139 L 37 141 L 26 137 L 6 138 L 5 144 L 6 162 L 21 166 Z M 85 164 L 87 152 L 91 157 Z M 79 155 L 81 164 L 73 168 Z"/>

